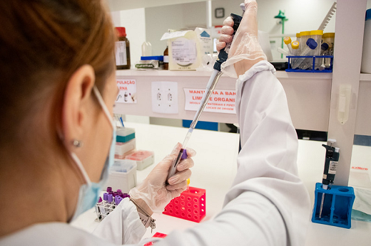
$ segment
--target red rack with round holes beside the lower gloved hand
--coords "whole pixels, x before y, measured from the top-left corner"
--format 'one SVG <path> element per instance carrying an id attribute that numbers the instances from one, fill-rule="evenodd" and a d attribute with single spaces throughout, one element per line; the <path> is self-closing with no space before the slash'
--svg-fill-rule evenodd
<path id="1" fill-rule="evenodd" d="M 206 215 L 206 190 L 189 187 L 166 205 L 163 214 L 200 223 Z"/>

